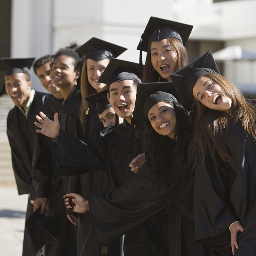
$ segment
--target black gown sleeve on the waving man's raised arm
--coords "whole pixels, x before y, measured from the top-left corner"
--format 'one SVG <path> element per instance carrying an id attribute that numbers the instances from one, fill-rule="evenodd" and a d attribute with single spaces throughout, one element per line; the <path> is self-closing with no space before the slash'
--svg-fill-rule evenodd
<path id="1" fill-rule="evenodd" d="M 60 135 L 52 140 L 53 172 L 58 175 L 81 175 L 91 171 L 107 170 L 107 142 L 86 144 L 60 129 Z"/>

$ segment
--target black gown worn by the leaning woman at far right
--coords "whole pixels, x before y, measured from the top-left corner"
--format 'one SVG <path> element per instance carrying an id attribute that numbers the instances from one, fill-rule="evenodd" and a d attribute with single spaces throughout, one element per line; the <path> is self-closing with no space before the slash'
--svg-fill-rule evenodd
<path id="1" fill-rule="evenodd" d="M 232 255 L 228 228 L 239 220 L 245 229 L 237 237 L 239 249 L 234 255 L 255 255 L 256 145 L 241 124 L 231 124 L 227 146 L 235 161 L 224 162 L 214 151 L 196 167 L 196 239 L 216 255 Z"/>

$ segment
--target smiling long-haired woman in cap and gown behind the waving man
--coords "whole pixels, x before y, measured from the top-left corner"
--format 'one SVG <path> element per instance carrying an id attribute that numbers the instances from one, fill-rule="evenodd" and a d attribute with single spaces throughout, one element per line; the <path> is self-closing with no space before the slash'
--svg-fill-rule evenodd
<path id="1" fill-rule="evenodd" d="M 97 141 L 100 136 L 100 131 L 103 129 L 103 124 L 100 122 L 95 104 L 89 106 L 85 98 L 107 88 L 107 84 L 99 82 L 100 76 L 103 74 L 112 57 L 117 57 L 126 50 L 127 49 L 124 47 L 111 44 L 95 37 L 92 37 L 76 49 L 76 52 L 80 55 L 86 56 L 81 71 L 82 101 L 78 115 L 83 133 L 76 136 L 85 143 Z M 100 170 L 70 177 L 70 184 L 71 183 L 74 185 L 70 186 L 69 192 L 76 192 L 85 197 L 98 194 L 105 190 L 112 191 L 108 172 Z M 78 214 L 77 217 L 77 255 L 99 255 L 101 249 L 106 250 L 106 248 L 101 248 L 95 235 L 90 214 Z M 119 241 L 117 241 L 117 243 L 119 244 Z M 112 255 L 119 253 L 118 248 L 117 251 L 114 252 L 111 252 L 111 250 L 109 246 L 108 253 Z"/>

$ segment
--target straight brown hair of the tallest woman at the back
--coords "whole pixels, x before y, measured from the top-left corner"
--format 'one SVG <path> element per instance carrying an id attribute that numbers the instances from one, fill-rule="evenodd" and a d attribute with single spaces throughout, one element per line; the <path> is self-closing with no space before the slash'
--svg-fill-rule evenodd
<path id="1" fill-rule="evenodd" d="M 180 68 L 185 67 L 188 64 L 188 55 L 186 48 L 181 44 L 180 40 L 177 38 L 167 38 L 169 43 L 172 45 L 173 50 L 176 52 L 178 57 L 178 64 L 176 67 L 176 71 Z M 148 45 L 147 57 L 144 65 L 142 83 L 154 83 L 159 82 L 163 78 L 156 72 L 151 63 L 151 52 L 150 52 L 151 43 Z"/>

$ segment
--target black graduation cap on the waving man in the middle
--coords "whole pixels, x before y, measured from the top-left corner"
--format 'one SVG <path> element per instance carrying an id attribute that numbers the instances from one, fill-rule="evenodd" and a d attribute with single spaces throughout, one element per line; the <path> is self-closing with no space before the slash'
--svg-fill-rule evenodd
<path id="1" fill-rule="evenodd" d="M 140 80 L 140 65 L 138 63 L 118 60 L 113 58 L 108 63 L 107 68 L 100 76 L 99 83 L 108 84 L 108 86 L 114 82 L 122 80 L 133 80 L 137 83 L 141 83 Z"/>

